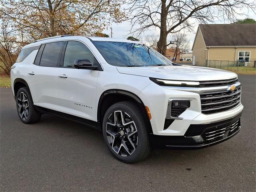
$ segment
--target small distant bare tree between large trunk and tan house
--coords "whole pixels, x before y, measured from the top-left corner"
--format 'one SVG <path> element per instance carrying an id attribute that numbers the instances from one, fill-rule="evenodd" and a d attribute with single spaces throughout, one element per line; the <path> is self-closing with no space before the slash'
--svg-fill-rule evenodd
<path id="1" fill-rule="evenodd" d="M 176 33 L 172 36 L 171 48 L 174 49 L 173 59 L 176 60 L 180 54 L 183 54 L 189 50 L 189 40 L 184 33 Z"/>

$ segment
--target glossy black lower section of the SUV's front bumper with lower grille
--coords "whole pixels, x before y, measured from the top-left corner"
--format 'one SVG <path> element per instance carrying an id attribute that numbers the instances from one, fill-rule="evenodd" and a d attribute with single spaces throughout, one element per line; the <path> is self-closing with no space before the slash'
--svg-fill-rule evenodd
<path id="1" fill-rule="evenodd" d="M 241 113 L 208 124 L 191 124 L 184 136 L 150 135 L 153 146 L 170 148 L 205 148 L 235 136 L 241 128 Z"/>

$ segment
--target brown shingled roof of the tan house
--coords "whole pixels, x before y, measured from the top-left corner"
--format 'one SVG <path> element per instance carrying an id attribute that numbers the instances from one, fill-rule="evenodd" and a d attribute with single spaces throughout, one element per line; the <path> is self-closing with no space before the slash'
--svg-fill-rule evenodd
<path id="1" fill-rule="evenodd" d="M 256 46 L 256 24 L 200 24 L 206 46 Z"/>

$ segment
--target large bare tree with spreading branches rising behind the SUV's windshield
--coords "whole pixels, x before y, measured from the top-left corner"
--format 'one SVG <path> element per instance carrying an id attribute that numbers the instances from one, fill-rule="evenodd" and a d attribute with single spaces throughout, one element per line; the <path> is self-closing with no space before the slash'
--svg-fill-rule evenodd
<path id="1" fill-rule="evenodd" d="M 213 22 L 216 17 L 234 21 L 237 10 L 256 12 L 255 2 L 250 0 L 128 0 L 128 5 L 131 33 L 136 36 L 149 28 L 159 28 L 157 50 L 163 55 L 168 34 L 192 31 L 194 21 Z"/>

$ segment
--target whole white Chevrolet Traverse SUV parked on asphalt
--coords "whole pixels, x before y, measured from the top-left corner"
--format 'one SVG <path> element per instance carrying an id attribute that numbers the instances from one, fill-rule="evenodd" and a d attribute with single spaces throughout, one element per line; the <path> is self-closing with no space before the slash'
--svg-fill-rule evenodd
<path id="1" fill-rule="evenodd" d="M 139 42 L 56 36 L 22 48 L 11 70 L 24 123 L 50 113 L 102 130 L 123 162 L 150 146 L 202 148 L 240 130 L 235 73 L 181 66 Z"/>

